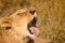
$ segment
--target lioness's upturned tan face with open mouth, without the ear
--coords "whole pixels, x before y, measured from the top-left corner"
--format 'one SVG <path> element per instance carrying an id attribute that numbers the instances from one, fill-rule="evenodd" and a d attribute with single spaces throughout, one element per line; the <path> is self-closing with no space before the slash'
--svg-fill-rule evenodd
<path id="1" fill-rule="evenodd" d="M 36 26 L 37 14 L 34 9 L 18 10 L 11 17 L 13 18 L 13 27 L 22 37 L 34 38 L 39 34 Z"/>

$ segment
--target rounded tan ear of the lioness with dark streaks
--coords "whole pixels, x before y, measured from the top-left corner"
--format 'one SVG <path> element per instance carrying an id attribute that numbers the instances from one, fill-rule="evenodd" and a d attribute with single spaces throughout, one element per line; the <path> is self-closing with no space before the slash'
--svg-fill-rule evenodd
<path id="1" fill-rule="evenodd" d="M 12 27 L 11 24 L 12 24 L 12 20 L 9 17 L 3 17 L 0 19 L 0 28 L 1 29 L 4 29 L 4 30 L 11 29 L 11 27 Z"/>

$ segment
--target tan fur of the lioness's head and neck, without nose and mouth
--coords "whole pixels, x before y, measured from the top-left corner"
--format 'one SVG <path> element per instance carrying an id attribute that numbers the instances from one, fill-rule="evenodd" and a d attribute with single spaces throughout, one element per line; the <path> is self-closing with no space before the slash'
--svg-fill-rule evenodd
<path id="1" fill-rule="evenodd" d="M 35 37 L 27 30 L 27 24 L 36 16 L 29 13 L 30 10 L 18 10 L 9 17 L 0 18 L 0 43 L 26 43 L 27 35 Z M 35 39 L 35 43 L 39 43 L 38 40 Z"/>

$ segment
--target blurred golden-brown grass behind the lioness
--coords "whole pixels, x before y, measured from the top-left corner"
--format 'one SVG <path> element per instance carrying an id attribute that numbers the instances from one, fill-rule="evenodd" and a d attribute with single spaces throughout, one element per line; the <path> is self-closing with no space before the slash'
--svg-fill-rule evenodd
<path id="1" fill-rule="evenodd" d="M 36 9 L 40 38 L 65 43 L 65 0 L 0 0 L 0 17 L 25 8 Z"/>

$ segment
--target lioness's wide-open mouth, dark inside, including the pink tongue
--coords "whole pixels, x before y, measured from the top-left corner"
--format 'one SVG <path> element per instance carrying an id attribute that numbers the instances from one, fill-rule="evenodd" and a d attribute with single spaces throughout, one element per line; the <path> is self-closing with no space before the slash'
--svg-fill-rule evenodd
<path id="1" fill-rule="evenodd" d="M 36 23 L 37 23 L 37 18 L 34 17 L 34 19 L 30 23 L 28 23 L 27 29 L 30 32 L 30 34 L 38 35 L 39 34 L 39 29 L 37 28 Z"/>

